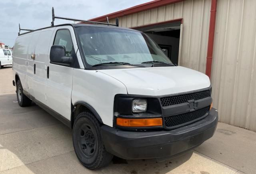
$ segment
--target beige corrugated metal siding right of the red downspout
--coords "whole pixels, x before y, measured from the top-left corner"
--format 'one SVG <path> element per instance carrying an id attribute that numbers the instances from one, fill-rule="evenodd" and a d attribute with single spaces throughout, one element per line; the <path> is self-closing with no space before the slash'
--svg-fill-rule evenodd
<path id="1" fill-rule="evenodd" d="M 256 130 L 256 1 L 218 0 L 212 87 L 220 121 Z"/>

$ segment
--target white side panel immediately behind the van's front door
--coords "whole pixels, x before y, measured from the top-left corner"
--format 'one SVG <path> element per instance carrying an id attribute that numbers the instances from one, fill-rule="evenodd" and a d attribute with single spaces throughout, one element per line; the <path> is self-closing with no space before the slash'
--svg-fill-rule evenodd
<path id="1" fill-rule="evenodd" d="M 35 61 L 36 73 L 33 74 L 33 88 L 34 97 L 36 100 L 47 105 L 46 102 L 46 79 L 47 79 L 47 67 L 46 61 L 50 55 L 49 46 L 52 39 L 54 28 L 48 28 L 40 32 L 40 36 L 36 43 L 35 48 Z"/>

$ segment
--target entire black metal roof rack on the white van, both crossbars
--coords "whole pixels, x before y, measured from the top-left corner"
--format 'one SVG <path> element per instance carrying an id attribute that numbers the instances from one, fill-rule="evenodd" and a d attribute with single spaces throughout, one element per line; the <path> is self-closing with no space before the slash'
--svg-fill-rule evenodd
<path id="1" fill-rule="evenodd" d="M 80 20 L 80 19 L 63 18 L 63 17 L 55 16 L 55 14 L 54 14 L 54 8 L 52 7 L 52 22 L 51 22 L 51 26 L 52 26 L 52 27 L 54 26 L 54 20 L 55 20 L 55 19 L 72 20 L 72 21 L 78 21 L 78 22 L 86 22 L 86 23 L 90 23 L 90 24 L 102 24 L 102 25 L 117 26 L 117 27 L 119 26 L 118 18 L 116 18 L 116 24 L 110 24 L 109 21 L 108 21 L 108 17 L 106 17 L 107 23 L 105 23 L 105 22 L 95 22 L 95 21 L 90 21 L 90 20 Z M 48 28 L 48 27 L 46 27 L 46 28 Z M 20 36 L 20 31 L 21 31 L 21 30 L 23 30 L 23 31 L 28 31 L 28 32 L 34 31 L 34 30 L 29 30 L 29 29 L 21 29 L 21 28 L 20 28 L 20 24 L 19 24 L 18 36 Z M 38 29 L 38 30 L 39 30 L 39 29 Z"/>

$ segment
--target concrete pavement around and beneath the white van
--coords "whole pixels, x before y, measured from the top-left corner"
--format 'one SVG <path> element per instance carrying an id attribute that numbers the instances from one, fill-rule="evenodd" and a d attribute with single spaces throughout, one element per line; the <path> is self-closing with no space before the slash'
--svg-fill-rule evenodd
<path id="1" fill-rule="evenodd" d="M 13 173 L 256 173 L 256 132 L 219 123 L 214 136 L 183 156 L 156 162 L 114 158 L 100 170 L 84 168 L 72 131 L 37 105 L 19 107 L 12 68 L 0 69 L 0 174 Z"/>

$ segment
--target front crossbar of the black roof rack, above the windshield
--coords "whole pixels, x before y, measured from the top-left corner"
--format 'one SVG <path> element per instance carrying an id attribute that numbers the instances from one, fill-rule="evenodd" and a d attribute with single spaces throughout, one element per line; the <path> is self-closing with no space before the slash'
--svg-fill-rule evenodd
<path id="1" fill-rule="evenodd" d="M 59 16 L 55 16 L 54 14 L 54 8 L 52 7 L 52 26 L 54 26 L 54 20 L 55 19 L 64 19 L 64 20 L 72 20 L 72 21 L 78 21 L 78 22 L 86 22 L 86 23 L 90 23 L 90 24 L 103 24 L 103 25 L 108 25 L 108 26 L 117 26 L 119 25 L 118 22 L 118 18 L 116 18 L 116 24 L 110 24 L 108 22 L 108 17 L 106 17 L 107 23 L 105 22 L 95 22 L 95 21 L 90 21 L 90 20 L 80 20 L 80 19 L 73 19 L 73 18 L 63 18 L 63 17 L 59 17 Z"/>

